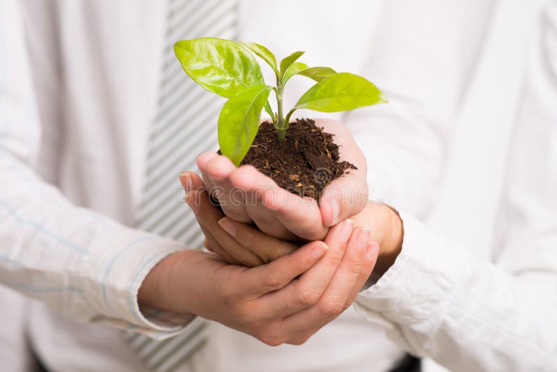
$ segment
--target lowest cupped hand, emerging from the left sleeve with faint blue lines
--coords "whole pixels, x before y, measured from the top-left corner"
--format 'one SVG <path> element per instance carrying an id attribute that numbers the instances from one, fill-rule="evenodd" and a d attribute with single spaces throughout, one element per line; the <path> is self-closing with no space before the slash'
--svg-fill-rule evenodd
<path id="1" fill-rule="evenodd" d="M 216 320 L 268 345 L 301 344 L 352 304 L 379 251 L 368 239 L 368 230 L 343 222 L 324 242 L 251 269 L 180 251 L 148 274 L 139 302 Z"/>

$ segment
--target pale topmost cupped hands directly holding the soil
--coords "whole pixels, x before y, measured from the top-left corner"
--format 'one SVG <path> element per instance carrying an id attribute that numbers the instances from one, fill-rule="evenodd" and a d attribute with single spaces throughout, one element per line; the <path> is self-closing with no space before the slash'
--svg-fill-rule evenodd
<path id="1" fill-rule="evenodd" d="M 351 162 L 357 170 L 327 185 L 317 203 L 278 187 L 253 166 L 236 168 L 228 157 L 203 153 L 198 157 L 198 167 L 207 189 L 219 189 L 212 196 L 221 203 L 223 212 L 238 222 L 253 221 L 275 238 L 291 241 L 322 239 L 329 226 L 360 212 L 367 201 L 366 158 L 342 123 L 320 119 L 316 125 L 335 134 L 340 160 Z M 187 178 L 181 180 L 187 189 Z"/>

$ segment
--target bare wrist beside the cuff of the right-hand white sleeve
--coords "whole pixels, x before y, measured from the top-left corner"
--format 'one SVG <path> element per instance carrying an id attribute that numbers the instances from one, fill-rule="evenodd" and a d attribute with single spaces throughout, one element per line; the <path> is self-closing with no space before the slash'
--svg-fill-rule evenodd
<path id="1" fill-rule="evenodd" d="M 402 250 L 404 228 L 400 215 L 390 206 L 372 203 L 353 219 L 356 224 L 370 227 L 370 239 L 379 243 L 379 256 L 373 272 L 379 276 L 384 274 Z"/>

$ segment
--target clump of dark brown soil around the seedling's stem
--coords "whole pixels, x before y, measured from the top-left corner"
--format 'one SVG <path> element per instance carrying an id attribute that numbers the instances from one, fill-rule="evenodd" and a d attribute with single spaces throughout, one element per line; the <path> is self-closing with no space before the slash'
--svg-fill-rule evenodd
<path id="1" fill-rule="evenodd" d="M 273 124 L 265 122 L 242 164 L 255 166 L 294 194 L 318 200 L 332 180 L 357 169 L 349 162 L 339 162 L 333 136 L 315 126 L 315 121 L 302 118 L 290 123 L 285 140 L 278 142 Z"/>

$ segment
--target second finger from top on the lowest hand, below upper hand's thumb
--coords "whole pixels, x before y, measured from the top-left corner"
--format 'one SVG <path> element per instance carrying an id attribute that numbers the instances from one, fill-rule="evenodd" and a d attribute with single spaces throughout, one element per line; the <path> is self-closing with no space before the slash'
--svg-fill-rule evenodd
<path id="1" fill-rule="evenodd" d="M 352 228 L 354 222 L 350 219 L 331 228 L 325 238 L 329 251 L 321 261 L 283 290 L 260 297 L 261 308 L 268 309 L 266 316 L 269 318 L 288 316 L 312 307 L 320 300 L 343 261 Z"/>

